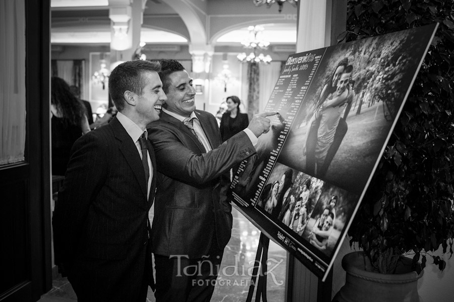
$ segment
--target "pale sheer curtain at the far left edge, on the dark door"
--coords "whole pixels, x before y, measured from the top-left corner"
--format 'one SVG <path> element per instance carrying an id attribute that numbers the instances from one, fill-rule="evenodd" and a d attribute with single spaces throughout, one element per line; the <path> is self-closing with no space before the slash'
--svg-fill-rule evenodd
<path id="1" fill-rule="evenodd" d="M 0 165 L 25 152 L 25 2 L 0 1 Z"/>

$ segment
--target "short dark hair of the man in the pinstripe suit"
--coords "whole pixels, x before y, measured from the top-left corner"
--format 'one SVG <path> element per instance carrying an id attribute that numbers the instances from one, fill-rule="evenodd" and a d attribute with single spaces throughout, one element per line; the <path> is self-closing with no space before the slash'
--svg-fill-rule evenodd
<path id="1" fill-rule="evenodd" d="M 159 63 L 150 61 L 128 61 L 120 64 L 112 70 L 109 76 L 109 94 L 118 111 L 125 108 L 123 94 L 129 90 L 139 95 L 147 85 L 143 73 L 160 71 Z"/>

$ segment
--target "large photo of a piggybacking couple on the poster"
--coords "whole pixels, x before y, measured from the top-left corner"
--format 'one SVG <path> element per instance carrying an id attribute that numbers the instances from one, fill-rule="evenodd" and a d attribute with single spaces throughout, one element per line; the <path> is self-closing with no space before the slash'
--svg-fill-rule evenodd
<path id="1" fill-rule="evenodd" d="M 361 193 L 425 47 L 411 30 L 328 47 L 277 161 Z"/>

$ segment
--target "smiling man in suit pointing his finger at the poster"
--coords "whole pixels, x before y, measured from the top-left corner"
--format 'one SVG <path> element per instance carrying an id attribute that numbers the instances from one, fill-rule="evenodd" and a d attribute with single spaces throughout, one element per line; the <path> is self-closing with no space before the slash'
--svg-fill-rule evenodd
<path id="1" fill-rule="evenodd" d="M 151 228 L 155 297 L 209 301 L 232 230 L 228 172 L 255 154 L 257 137 L 269 130 L 266 116 L 275 112 L 257 114 L 245 131 L 221 144 L 215 117 L 195 108 L 183 66 L 163 60 L 159 76 L 167 101 L 160 119 L 147 127 L 158 170 Z"/>

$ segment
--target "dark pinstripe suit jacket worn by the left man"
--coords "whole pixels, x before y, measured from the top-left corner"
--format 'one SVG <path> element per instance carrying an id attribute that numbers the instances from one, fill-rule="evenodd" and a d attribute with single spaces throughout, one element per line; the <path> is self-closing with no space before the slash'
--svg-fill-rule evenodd
<path id="1" fill-rule="evenodd" d="M 145 301 L 153 282 L 147 199 L 137 148 L 117 118 L 73 148 L 53 215 L 55 263 L 63 264 L 79 301 Z"/>

